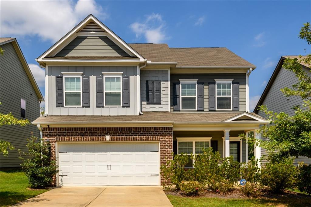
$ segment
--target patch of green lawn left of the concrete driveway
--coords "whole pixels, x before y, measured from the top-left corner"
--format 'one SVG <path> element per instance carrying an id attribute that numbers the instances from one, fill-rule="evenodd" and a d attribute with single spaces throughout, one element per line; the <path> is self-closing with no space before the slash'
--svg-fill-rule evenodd
<path id="1" fill-rule="evenodd" d="M 21 171 L 0 171 L 0 206 L 10 206 L 48 191 L 29 189 L 28 179 Z"/>

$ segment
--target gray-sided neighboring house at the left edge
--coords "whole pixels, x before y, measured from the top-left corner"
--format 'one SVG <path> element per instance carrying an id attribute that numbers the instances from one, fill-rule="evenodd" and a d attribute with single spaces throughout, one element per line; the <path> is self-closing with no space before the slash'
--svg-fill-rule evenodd
<path id="1" fill-rule="evenodd" d="M 4 54 L 0 55 L 0 113 L 12 112 L 16 118 L 32 122 L 40 116 L 43 96 L 16 39 L 0 38 L 0 47 L 4 50 Z M 31 133 L 39 136 L 39 129 L 31 124 L 0 127 L 0 139 L 9 141 L 15 147 L 15 150 L 9 150 L 7 157 L 1 154 L 1 168 L 21 167 L 17 149 L 27 150 L 27 139 Z"/>

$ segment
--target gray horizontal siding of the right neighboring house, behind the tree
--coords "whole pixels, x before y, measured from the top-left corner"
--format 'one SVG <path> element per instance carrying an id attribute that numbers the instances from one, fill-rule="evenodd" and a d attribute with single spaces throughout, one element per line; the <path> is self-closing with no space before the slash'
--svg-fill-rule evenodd
<path id="1" fill-rule="evenodd" d="M 309 69 L 305 68 L 306 72 L 311 73 Z M 281 89 L 285 87 L 291 87 L 293 84 L 297 83 L 298 79 L 295 77 L 295 74 L 291 71 L 285 70 L 283 67 L 280 69 L 276 79 L 274 80 L 270 90 L 267 93 L 266 98 L 264 99 L 262 105 L 266 105 L 270 111 L 280 113 L 285 112 L 290 116 L 294 115 L 294 110 L 292 109 L 295 105 L 302 105 L 303 101 L 300 97 L 297 96 L 290 96 L 286 97 L 282 92 Z M 267 118 L 267 115 L 262 112 L 258 111 L 258 115 L 264 118 Z M 262 137 L 262 140 L 268 140 L 266 137 Z M 267 150 L 261 148 L 261 154 L 267 155 Z M 262 160 L 262 163 L 266 163 L 267 160 Z M 311 159 L 306 157 L 299 157 L 295 159 L 294 164 L 297 165 L 298 162 L 304 162 L 307 164 L 311 164 Z"/>

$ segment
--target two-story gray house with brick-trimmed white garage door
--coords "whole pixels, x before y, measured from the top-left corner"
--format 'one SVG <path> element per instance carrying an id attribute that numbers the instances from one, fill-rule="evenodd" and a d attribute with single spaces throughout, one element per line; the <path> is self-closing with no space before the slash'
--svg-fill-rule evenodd
<path id="1" fill-rule="evenodd" d="M 167 184 L 160 164 L 207 147 L 245 162 L 239 135 L 268 123 L 248 110 L 256 66 L 227 48 L 128 44 L 89 15 L 36 60 L 56 185 Z"/>

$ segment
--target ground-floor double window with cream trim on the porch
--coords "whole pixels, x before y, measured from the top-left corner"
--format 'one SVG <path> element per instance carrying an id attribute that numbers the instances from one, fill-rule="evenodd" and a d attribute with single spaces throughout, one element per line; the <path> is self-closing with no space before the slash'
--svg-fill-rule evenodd
<path id="1" fill-rule="evenodd" d="M 196 138 L 177 138 L 177 153 L 186 154 L 188 163 L 185 168 L 193 168 L 195 160 L 191 158 L 191 154 L 201 154 L 202 149 L 211 147 L 211 137 Z"/>

